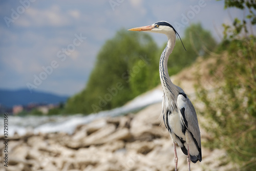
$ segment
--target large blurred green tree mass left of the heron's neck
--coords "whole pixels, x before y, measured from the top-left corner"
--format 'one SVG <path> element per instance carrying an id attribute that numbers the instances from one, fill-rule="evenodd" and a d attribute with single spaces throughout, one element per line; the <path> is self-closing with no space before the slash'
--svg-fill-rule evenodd
<path id="1" fill-rule="evenodd" d="M 159 56 L 152 37 L 121 30 L 97 55 L 87 87 L 71 97 L 67 113 L 96 113 L 123 105 L 160 83 Z M 152 77 L 153 76 L 153 77 Z"/>

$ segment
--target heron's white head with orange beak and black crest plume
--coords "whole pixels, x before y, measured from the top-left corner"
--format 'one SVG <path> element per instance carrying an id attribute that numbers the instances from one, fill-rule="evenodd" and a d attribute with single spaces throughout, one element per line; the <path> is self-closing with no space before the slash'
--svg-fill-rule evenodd
<path id="1" fill-rule="evenodd" d="M 175 37 L 175 35 L 179 36 L 178 32 L 174 29 L 172 25 L 170 25 L 168 22 L 157 22 L 150 26 L 143 26 L 143 27 L 136 27 L 133 29 L 129 29 L 131 31 L 144 31 L 144 32 L 152 32 L 152 33 L 163 33 L 167 35 L 167 37 Z M 180 38 L 181 40 L 181 38 Z M 182 42 L 182 41 L 181 41 Z M 182 42 L 183 45 L 183 42 Z M 184 47 L 184 45 L 183 45 Z M 185 47 L 184 47 L 185 49 Z M 185 49 L 186 50 L 186 49 Z"/>

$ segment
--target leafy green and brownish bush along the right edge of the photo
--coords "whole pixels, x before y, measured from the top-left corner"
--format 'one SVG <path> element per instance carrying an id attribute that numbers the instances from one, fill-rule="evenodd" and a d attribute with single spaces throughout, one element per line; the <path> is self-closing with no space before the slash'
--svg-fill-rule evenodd
<path id="1" fill-rule="evenodd" d="M 225 0 L 225 7 L 247 8 L 247 19 L 255 25 L 255 1 Z M 208 122 L 203 125 L 212 135 L 205 145 L 226 149 L 229 159 L 239 164 L 241 170 L 255 170 L 256 167 L 256 37 L 240 37 L 247 33 L 246 20 L 234 18 L 233 25 L 224 26 L 224 40 L 218 53 L 217 63 L 225 67 L 219 77 L 218 67 L 210 71 L 216 75 L 212 84 L 221 87 L 209 93 L 199 84 L 197 96 L 205 108 L 200 113 Z M 224 81 L 224 84 L 222 82 Z"/>

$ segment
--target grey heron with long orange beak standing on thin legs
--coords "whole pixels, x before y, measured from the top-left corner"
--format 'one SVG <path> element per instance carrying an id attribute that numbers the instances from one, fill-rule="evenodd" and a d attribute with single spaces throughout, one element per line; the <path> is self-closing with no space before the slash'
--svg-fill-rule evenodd
<path id="1" fill-rule="evenodd" d="M 129 30 L 163 33 L 168 38 L 159 62 L 160 80 L 164 94 L 162 115 L 165 127 L 173 140 L 175 170 L 177 170 L 178 164 L 176 143 L 181 147 L 182 152 L 187 155 L 188 170 L 190 170 L 190 161 L 193 163 L 198 160 L 202 161 L 201 136 L 197 114 L 185 92 L 170 80 L 167 70 L 168 57 L 174 50 L 176 35 L 179 36 L 179 34 L 172 25 L 164 21 Z"/>

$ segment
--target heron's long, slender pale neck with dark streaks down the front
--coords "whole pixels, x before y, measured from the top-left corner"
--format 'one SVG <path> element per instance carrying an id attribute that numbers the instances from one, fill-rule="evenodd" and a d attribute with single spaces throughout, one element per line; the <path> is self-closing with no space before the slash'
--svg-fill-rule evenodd
<path id="1" fill-rule="evenodd" d="M 172 91 L 173 82 L 170 80 L 167 68 L 167 62 L 169 55 L 173 52 L 175 46 L 175 34 L 174 36 L 168 36 L 168 42 L 165 49 L 162 52 L 159 62 L 159 73 L 163 91 Z"/>

